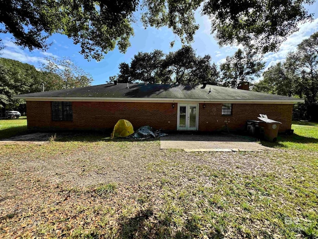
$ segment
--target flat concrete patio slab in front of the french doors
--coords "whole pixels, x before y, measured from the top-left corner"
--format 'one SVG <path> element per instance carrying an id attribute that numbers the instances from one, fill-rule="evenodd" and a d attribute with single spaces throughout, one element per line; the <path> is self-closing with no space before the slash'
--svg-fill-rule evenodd
<path id="1" fill-rule="evenodd" d="M 160 149 L 185 151 L 262 151 L 273 148 L 261 145 L 255 138 L 235 134 L 169 134 L 160 137 Z"/>

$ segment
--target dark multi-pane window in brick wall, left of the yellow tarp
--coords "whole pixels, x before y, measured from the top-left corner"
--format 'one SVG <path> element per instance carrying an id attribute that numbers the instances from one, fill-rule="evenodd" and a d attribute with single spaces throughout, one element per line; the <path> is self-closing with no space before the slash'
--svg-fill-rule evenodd
<path id="1" fill-rule="evenodd" d="M 52 120 L 73 120 L 72 102 L 52 102 Z"/>

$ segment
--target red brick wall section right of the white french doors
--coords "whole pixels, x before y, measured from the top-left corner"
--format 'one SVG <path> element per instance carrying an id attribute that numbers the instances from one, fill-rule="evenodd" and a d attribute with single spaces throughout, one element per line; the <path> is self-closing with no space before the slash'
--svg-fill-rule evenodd
<path id="1" fill-rule="evenodd" d="M 266 114 L 269 119 L 282 122 L 279 131 L 284 132 L 292 125 L 293 105 L 279 104 L 232 104 L 232 116 L 222 116 L 222 104 L 200 104 L 199 130 L 214 131 L 225 128 L 243 129 L 247 119 L 258 120 L 259 114 Z"/>

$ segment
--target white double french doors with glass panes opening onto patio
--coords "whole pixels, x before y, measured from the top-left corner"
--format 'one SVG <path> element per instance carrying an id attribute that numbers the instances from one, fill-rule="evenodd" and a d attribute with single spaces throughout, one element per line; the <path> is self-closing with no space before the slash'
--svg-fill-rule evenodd
<path id="1" fill-rule="evenodd" d="M 177 130 L 198 130 L 198 105 L 178 104 Z"/>

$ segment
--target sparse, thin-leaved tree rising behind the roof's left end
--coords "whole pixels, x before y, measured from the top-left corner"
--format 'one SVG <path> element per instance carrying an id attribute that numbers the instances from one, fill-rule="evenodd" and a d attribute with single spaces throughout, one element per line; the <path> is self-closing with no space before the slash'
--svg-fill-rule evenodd
<path id="1" fill-rule="evenodd" d="M 58 85 L 60 89 L 90 86 L 92 78 L 81 68 L 75 65 L 70 59 L 57 59 L 55 57 L 46 58 L 43 63 L 43 71 L 55 73 L 62 79 L 62 84 Z"/>

